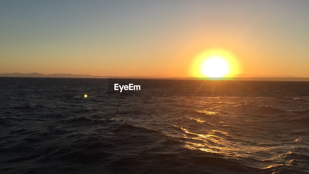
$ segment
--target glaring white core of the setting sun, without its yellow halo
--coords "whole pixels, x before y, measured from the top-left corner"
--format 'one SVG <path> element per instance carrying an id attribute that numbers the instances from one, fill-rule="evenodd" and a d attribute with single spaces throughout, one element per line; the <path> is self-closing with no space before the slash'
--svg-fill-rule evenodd
<path id="1" fill-rule="evenodd" d="M 228 64 L 220 56 L 210 57 L 202 66 L 203 74 L 208 77 L 222 77 L 227 74 L 228 69 Z"/>

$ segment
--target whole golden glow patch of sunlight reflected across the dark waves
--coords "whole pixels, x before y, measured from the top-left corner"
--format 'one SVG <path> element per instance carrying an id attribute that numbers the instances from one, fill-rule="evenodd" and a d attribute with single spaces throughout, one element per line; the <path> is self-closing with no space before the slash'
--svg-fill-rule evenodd
<path id="1" fill-rule="evenodd" d="M 254 158 L 257 162 L 252 166 L 265 171 L 277 171 L 281 166 L 296 163 L 292 151 L 282 150 L 286 149 L 287 145 L 272 139 L 251 136 L 258 133 L 250 129 L 243 130 L 244 134 L 241 132 L 243 125 L 251 122 L 248 123 L 244 115 L 231 114 L 235 106 L 241 106 L 236 98 L 190 98 L 187 102 L 194 103 L 196 108 L 190 110 L 193 114 L 185 115 L 185 122 L 174 124 L 174 127 L 180 130 L 177 140 L 184 143 L 184 148 L 200 153 L 220 154 L 231 160 Z M 302 137 L 291 139 L 290 143 L 300 141 Z"/>

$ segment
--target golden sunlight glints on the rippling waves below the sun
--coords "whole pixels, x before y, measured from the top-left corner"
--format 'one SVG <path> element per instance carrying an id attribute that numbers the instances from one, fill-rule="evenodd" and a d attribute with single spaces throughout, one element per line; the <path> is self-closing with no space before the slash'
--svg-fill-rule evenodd
<path id="1" fill-rule="evenodd" d="M 195 121 L 195 123 L 205 124 L 204 129 L 198 128 L 195 129 L 194 127 L 188 126 L 180 126 L 174 125 L 177 128 L 180 128 L 184 132 L 183 134 L 183 142 L 184 147 L 190 150 L 201 150 L 205 153 L 217 153 L 224 155 L 225 158 L 232 158 L 232 159 L 243 159 L 243 158 L 252 158 L 252 155 L 255 156 L 252 160 L 255 160 L 254 166 L 260 169 L 268 169 L 274 168 L 282 165 L 290 165 L 294 159 L 290 159 L 288 155 L 292 154 L 291 151 L 284 152 L 282 149 L 286 149 L 286 147 L 279 145 L 280 143 L 273 143 L 270 141 L 265 141 L 265 143 L 256 143 L 256 138 L 259 137 L 252 137 L 250 133 L 248 135 L 243 135 L 240 133 L 242 128 L 241 126 L 227 126 L 224 124 L 230 124 L 231 120 L 233 123 L 241 123 L 246 126 L 249 126 L 247 129 L 248 132 L 252 132 L 250 128 L 250 124 L 255 124 L 254 121 L 246 121 L 240 120 L 243 116 L 243 113 L 239 116 L 237 115 L 226 115 L 228 111 L 226 107 L 233 106 L 233 107 L 244 107 L 248 105 L 248 102 L 232 102 L 226 100 L 222 100 L 222 98 L 217 98 L 219 101 L 215 101 L 212 98 L 211 102 L 197 102 L 198 106 L 206 105 L 207 109 L 201 110 L 193 110 L 196 113 L 203 113 L 204 116 L 194 117 L 193 115 L 187 115 L 186 117 L 189 120 Z M 227 99 L 227 98 L 225 98 Z M 223 113 L 222 113 L 223 112 Z M 222 117 L 224 118 L 216 123 L 210 121 L 211 118 L 208 116 L 214 117 Z M 192 125 L 194 125 L 192 123 Z M 206 125 L 212 126 L 210 129 L 207 128 Z M 230 128 L 223 128 L 230 127 Z M 263 131 L 263 130 L 261 130 Z M 255 136 L 259 135 L 258 133 L 254 133 Z M 294 139 L 293 141 L 297 142 L 300 141 L 299 139 Z M 292 142 L 292 141 L 291 141 Z M 280 152 L 280 154 L 278 154 Z M 268 154 L 268 155 L 265 155 Z M 267 158 L 271 155 L 270 158 Z M 287 160 L 289 159 L 289 160 Z M 264 161 L 267 163 L 264 163 Z M 271 162 L 271 164 L 269 164 Z"/>

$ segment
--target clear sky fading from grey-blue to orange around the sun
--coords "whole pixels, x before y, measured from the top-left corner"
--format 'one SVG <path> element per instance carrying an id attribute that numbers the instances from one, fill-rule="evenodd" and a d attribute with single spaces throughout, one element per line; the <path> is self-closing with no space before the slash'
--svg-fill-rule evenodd
<path id="1" fill-rule="evenodd" d="M 190 76 L 226 50 L 237 73 L 309 77 L 309 1 L 0 0 L 0 73 Z"/>

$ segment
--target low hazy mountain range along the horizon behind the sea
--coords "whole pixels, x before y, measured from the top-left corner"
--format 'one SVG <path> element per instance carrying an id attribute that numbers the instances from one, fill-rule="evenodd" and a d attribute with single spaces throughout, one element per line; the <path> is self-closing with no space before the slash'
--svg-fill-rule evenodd
<path id="1" fill-rule="evenodd" d="M 0 74 L 0 77 L 58 77 L 58 78 L 184 78 L 190 79 L 192 77 L 176 77 L 168 74 L 164 75 L 150 75 L 150 76 L 92 76 L 89 74 L 42 74 L 42 73 L 4 73 Z M 297 81 L 309 81 L 309 78 L 282 75 L 260 75 L 260 74 L 238 74 L 235 75 L 236 78 L 241 78 L 241 80 L 297 80 Z"/>

